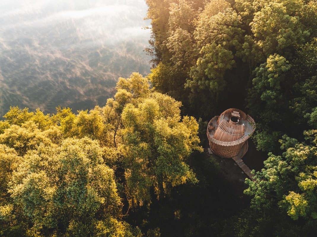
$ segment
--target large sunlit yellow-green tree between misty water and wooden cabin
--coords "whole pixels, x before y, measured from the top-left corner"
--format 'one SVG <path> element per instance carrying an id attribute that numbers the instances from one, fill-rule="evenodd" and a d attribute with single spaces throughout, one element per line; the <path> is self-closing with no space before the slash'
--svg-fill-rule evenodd
<path id="1" fill-rule="evenodd" d="M 140 74 L 120 78 L 114 99 L 104 107 L 107 123 L 114 121 L 114 138 L 124 170 L 124 185 L 130 206 L 151 200 L 172 186 L 196 182 L 186 158 L 198 146 L 198 124 L 194 118 L 181 119 L 180 102 L 149 89 Z M 113 119 L 119 115 L 119 121 Z"/>

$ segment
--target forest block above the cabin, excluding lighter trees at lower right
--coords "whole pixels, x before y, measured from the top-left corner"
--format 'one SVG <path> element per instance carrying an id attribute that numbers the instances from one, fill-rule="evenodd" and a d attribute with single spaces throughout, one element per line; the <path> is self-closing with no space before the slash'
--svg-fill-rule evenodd
<path id="1" fill-rule="evenodd" d="M 254 139 L 265 152 L 278 149 L 283 134 L 302 139 L 314 128 L 315 0 L 147 4 L 155 66 L 148 78 L 182 101 L 184 112 L 207 119 L 242 108 L 255 119 Z"/>

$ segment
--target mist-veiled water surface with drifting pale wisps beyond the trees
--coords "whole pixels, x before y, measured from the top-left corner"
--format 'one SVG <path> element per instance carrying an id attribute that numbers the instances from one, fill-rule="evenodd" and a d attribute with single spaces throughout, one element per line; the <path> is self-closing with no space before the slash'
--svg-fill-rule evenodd
<path id="1" fill-rule="evenodd" d="M 4 0 L 0 116 L 10 106 L 104 105 L 118 77 L 150 71 L 143 0 Z"/>

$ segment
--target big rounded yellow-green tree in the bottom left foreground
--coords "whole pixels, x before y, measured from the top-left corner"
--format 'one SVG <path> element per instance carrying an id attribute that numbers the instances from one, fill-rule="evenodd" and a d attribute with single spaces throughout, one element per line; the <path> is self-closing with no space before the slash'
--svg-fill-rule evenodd
<path id="1" fill-rule="evenodd" d="M 100 223 L 109 226 L 119 217 L 121 201 L 113 176 L 98 142 L 68 138 L 60 146 L 40 145 L 28 152 L 13 173 L 9 192 L 35 231 L 92 236 L 102 233 Z M 118 222 L 113 231 L 129 233 L 126 228 Z"/>

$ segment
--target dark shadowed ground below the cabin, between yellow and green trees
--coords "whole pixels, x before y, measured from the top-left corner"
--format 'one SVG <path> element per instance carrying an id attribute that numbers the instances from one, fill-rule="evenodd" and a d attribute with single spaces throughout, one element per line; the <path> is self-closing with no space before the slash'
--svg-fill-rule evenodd
<path id="1" fill-rule="evenodd" d="M 248 188 L 244 183 L 247 176 L 233 159 L 209 155 L 208 141 L 203 147 L 204 153 L 195 151 L 187 160 L 198 183 L 178 185 L 159 198 L 153 190 L 151 204 L 130 209 L 125 221 L 145 233 L 158 227 L 161 236 L 202 237 L 217 236 L 230 218 L 238 218 L 251 201 L 250 196 L 243 194 Z M 243 161 L 251 169 L 261 169 L 265 157 L 258 158 L 251 142 L 249 151 Z"/>

